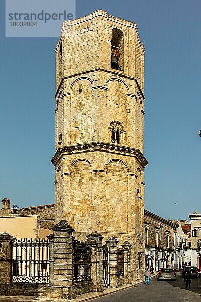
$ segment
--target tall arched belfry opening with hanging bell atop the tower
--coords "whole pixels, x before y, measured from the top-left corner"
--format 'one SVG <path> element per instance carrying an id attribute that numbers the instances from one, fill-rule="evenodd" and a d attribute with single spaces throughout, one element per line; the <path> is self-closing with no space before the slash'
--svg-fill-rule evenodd
<path id="1" fill-rule="evenodd" d="M 111 39 L 111 68 L 123 71 L 123 32 L 118 28 L 113 28 Z"/>

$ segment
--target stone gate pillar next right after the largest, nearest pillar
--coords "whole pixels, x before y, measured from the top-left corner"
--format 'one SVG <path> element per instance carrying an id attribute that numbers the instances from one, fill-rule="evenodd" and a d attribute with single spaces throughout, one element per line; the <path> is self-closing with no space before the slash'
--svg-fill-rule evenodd
<path id="1" fill-rule="evenodd" d="M 92 267 L 91 267 L 91 277 L 93 281 L 94 291 L 104 291 L 104 281 L 103 281 L 103 251 L 102 251 L 102 239 L 103 236 L 97 231 L 89 234 L 87 236 L 86 243 L 92 247 Z"/>

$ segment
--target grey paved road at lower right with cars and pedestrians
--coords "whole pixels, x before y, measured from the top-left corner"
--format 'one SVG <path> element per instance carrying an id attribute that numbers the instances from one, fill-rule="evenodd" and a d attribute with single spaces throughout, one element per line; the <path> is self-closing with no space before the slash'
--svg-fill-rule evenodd
<path id="1" fill-rule="evenodd" d="M 177 280 L 157 281 L 156 277 L 145 283 L 124 289 L 100 298 L 94 302 L 201 302 L 201 277 L 192 279 L 191 289 L 185 289 L 181 273 L 177 273 Z"/>

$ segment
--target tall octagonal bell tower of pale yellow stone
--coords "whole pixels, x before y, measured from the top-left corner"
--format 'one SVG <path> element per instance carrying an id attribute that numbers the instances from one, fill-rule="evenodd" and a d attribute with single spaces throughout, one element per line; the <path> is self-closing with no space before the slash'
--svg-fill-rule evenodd
<path id="1" fill-rule="evenodd" d="M 56 45 L 56 222 L 67 220 L 77 239 L 98 231 L 130 241 L 135 272 L 143 265 L 148 163 L 143 90 L 135 23 L 101 10 L 63 23 Z"/>

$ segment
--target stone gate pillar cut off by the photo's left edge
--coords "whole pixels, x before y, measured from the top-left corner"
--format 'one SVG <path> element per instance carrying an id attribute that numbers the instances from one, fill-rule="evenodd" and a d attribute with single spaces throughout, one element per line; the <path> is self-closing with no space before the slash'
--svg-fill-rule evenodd
<path id="1" fill-rule="evenodd" d="M 9 295 L 11 283 L 11 244 L 15 238 L 8 233 L 0 235 L 0 294 Z"/>

